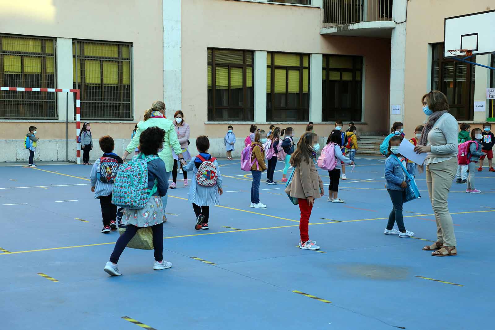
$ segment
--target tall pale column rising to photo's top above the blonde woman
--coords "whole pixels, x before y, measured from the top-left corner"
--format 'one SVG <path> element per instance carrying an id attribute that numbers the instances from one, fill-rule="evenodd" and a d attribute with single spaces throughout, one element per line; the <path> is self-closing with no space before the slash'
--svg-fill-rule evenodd
<path id="1" fill-rule="evenodd" d="M 182 109 L 181 0 L 163 1 L 163 101 L 172 118 Z"/>

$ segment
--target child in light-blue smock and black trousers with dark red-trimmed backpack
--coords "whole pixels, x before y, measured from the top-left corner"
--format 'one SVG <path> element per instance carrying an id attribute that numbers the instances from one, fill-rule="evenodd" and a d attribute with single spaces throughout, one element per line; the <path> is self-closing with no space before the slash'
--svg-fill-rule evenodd
<path id="1" fill-rule="evenodd" d="M 110 136 L 99 138 L 99 148 L 103 150 L 103 156 L 96 160 L 91 169 L 91 191 L 95 198 L 99 199 L 101 206 L 101 218 L 103 229 L 101 233 L 108 234 L 118 230 L 116 224 L 117 206 L 112 204 L 113 182 L 120 164 L 124 161 L 113 153 L 115 142 Z"/>

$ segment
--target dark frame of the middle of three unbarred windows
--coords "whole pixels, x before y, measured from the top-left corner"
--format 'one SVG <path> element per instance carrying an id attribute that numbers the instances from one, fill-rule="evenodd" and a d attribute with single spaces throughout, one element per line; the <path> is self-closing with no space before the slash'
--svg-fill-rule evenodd
<path id="1" fill-rule="evenodd" d="M 299 55 L 299 66 L 290 66 L 290 65 L 275 65 L 275 54 L 277 53 L 286 53 L 286 54 L 297 54 Z M 268 54 L 271 56 L 270 64 L 267 64 L 266 67 L 270 68 L 270 103 L 268 102 L 268 92 L 267 94 L 267 105 L 266 105 L 266 120 L 267 121 L 276 121 L 276 122 L 285 122 L 285 121 L 297 121 L 297 122 L 307 122 L 309 121 L 309 92 L 310 92 L 310 82 L 311 82 L 311 54 L 309 53 L 293 53 L 293 52 L 282 52 L 282 51 L 268 51 Z M 304 66 L 304 55 L 308 56 L 308 65 Z M 275 69 L 285 69 L 286 70 L 286 81 L 285 81 L 285 107 L 275 107 Z M 296 107 L 288 107 L 287 103 L 289 100 L 289 70 L 299 70 L 299 104 Z M 303 92 L 303 82 L 304 82 L 304 70 L 308 70 L 308 91 L 306 93 Z M 307 104 L 303 104 L 304 95 L 307 94 Z M 271 104 L 271 107 L 268 106 Z M 284 110 L 298 110 L 297 111 L 297 119 L 296 120 L 284 120 L 281 117 L 275 117 L 275 111 L 284 111 Z"/>

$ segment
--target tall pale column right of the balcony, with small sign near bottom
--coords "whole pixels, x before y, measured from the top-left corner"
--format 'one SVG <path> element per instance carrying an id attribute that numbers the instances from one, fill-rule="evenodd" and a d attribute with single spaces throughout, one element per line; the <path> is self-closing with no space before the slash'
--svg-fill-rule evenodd
<path id="1" fill-rule="evenodd" d="M 404 120 L 405 37 L 407 0 L 394 1 L 392 19 L 397 23 L 392 30 L 390 59 L 390 124 Z M 399 113 L 393 109 L 400 108 Z"/>

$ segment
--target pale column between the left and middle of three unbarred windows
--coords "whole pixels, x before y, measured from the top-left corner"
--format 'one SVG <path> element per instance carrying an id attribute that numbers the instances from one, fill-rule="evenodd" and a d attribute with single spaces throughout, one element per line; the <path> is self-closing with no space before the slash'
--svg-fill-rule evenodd
<path id="1" fill-rule="evenodd" d="M 266 51 L 254 51 L 254 122 L 266 122 Z"/>

